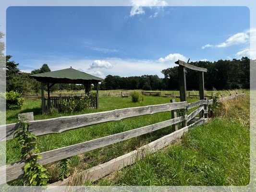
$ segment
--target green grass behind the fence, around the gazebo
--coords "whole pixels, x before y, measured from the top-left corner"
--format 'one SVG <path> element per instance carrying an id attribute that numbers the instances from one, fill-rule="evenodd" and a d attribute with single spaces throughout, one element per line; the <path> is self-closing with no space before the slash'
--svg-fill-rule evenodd
<path id="1" fill-rule="evenodd" d="M 99 109 L 88 109 L 79 113 L 73 113 L 75 114 L 84 114 L 84 113 L 92 113 L 92 112 L 99 112 L 99 111 L 107 111 L 107 110 L 113 110 L 113 109 L 119 109 L 119 108 L 129 108 L 129 107 L 139 107 L 139 106 L 147 106 L 147 105 L 156 105 L 156 104 L 163 104 L 163 103 L 169 103 L 170 98 L 168 97 L 158 97 L 158 96 L 145 96 L 145 100 L 142 103 L 133 103 L 131 101 L 131 97 L 100 97 L 99 98 Z M 175 99 L 176 102 L 179 102 L 179 98 Z M 188 102 L 194 102 L 198 100 L 198 98 L 190 98 L 188 99 Z M 34 112 L 34 118 L 35 120 L 40 119 L 49 119 L 54 117 L 60 117 L 60 116 L 66 116 L 71 114 L 51 114 L 51 115 L 41 115 L 40 114 L 40 105 L 41 100 L 25 100 L 24 106 L 20 110 L 8 110 L 6 112 L 6 121 L 7 123 L 17 122 L 17 115 L 18 113 L 23 112 Z M 192 110 L 192 109 L 191 109 Z M 190 111 L 191 111 L 190 110 Z M 168 120 L 170 119 L 171 114 L 170 112 L 162 112 L 157 113 L 154 115 L 146 115 L 146 116 L 140 116 L 140 117 L 134 117 L 129 118 L 125 120 L 120 120 L 117 122 L 107 122 L 107 123 L 101 123 L 98 125 L 93 126 L 87 126 L 84 128 L 74 129 L 67 132 L 62 132 L 58 134 L 48 134 L 48 135 L 42 135 L 38 136 L 38 148 L 41 152 L 49 151 L 52 149 L 68 146 L 71 144 L 77 144 L 85 141 L 89 141 L 92 139 L 100 138 L 103 136 L 115 134 L 118 132 L 124 132 L 128 130 L 132 130 L 135 128 L 143 127 L 149 124 L 157 123 L 160 121 Z M 226 122 L 224 122 L 225 124 Z M 127 141 L 123 141 L 117 144 L 112 144 L 110 146 L 102 147 L 100 149 L 96 149 L 90 152 L 87 152 L 85 154 L 81 154 L 79 156 L 74 156 L 70 159 L 71 164 L 71 172 L 73 172 L 74 168 L 77 169 L 86 169 L 91 168 L 93 166 L 96 166 L 100 163 L 104 163 L 109 161 L 110 159 L 113 159 L 115 157 L 124 155 L 126 153 L 131 152 L 134 149 L 137 149 L 138 147 L 150 143 L 166 134 L 171 133 L 172 131 L 171 127 L 167 127 L 161 130 L 158 130 L 156 132 L 148 133 L 133 139 L 129 139 Z M 199 134 L 200 136 L 200 134 Z M 228 137 L 229 138 L 229 137 Z M 207 141 L 207 138 L 205 138 Z M 247 140 L 246 140 L 247 141 Z M 248 146 L 247 144 L 245 146 Z M 6 142 L 6 163 L 10 164 L 15 161 L 18 161 L 20 159 L 20 147 L 17 144 L 16 139 L 12 139 Z M 193 154 L 193 149 L 190 149 L 191 154 Z M 245 150 L 244 153 L 247 153 Z M 164 155 L 164 154 L 162 154 Z M 196 155 L 196 154 L 194 154 Z M 155 155 L 154 155 L 155 156 Z M 149 158 L 149 157 L 147 157 Z M 199 158 L 199 157 L 198 157 Z M 56 163 L 46 165 L 49 172 L 51 172 L 53 175 L 51 178 L 51 182 L 54 182 L 58 179 L 58 166 L 56 166 Z M 130 167 L 133 168 L 133 167 Z M 126 169 L 125 169 L 126 170 Z M 150 170 L 153 171 L 153 170 Z M 151 173 L 151 172 L 149 172 Z M 148 173 L 148 174 L 149 174 Z M 138 173 L 139 174 L 139 173 Z M 145 173 L 146 174 L 146 173 Z M 166 173 L 167 174 L 167 173 Z M 124 177 L 124 176 L 123 176 Z M 246 179 L 246 177 L 244 177 Z M 197 178 L 198 179 L 198 178 Z M 242 179 L 241 179 L 242 180 Z M 154 181 L 155 182 L 155 181 Z M 159 181 L 160 183 L 163 181 Z M 100 184 L 125 184 L 125 182 L 118 182 L 117 180 L 100 180 Z M 144 182 L 147 183 L 146 181 Z M 150 181 L 152 184 L 152 182 Z M 185 182 L 184 182 L 185 183 Z M 13 182 L 12 184 L 18 185 L 21 184 L 20 182 Z"/>

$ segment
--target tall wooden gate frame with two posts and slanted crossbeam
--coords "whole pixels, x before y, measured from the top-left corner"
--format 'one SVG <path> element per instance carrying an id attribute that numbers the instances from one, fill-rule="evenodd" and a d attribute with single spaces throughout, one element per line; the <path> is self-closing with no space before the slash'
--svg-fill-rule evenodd
<path id="1" fill-rule="evenodd" d="M 199 72 L 199 97 L 200 100 L 205 99 L 205 81 L 204 81 L 204 72 L 207 72 L 207 69 L 201 68 L 201 67 L 196 67 L 194 65 L 190 65 L 182 60 L 178 60 L 175 62 L 176 64 L 179 65 L 178 73 L 179 73 L 179 84 L 180 84 L 180 99 L 181 101 L 187 101 L 187 96 L 186 96 L 186 68 L 192 69 L 194 71 Z M 204 113 L 202 112 L 200 114 L 200 117 L 203 117 Z M 183 127 L 186 126 L 186 122 L 184 121 Z"/>

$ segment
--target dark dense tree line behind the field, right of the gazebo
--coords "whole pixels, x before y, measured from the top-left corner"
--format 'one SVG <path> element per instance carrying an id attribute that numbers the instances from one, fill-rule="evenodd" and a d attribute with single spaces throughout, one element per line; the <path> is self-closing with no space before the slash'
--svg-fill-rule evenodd
<path id="1" fill-rule="evenodd" d="M 240 60 L 196 61 L 191 65 L 206 68 L 206 89 L 249 89 L 250 88 L 250 60 L 243 57 Z M 101 83 L 103 90 L 110 89 L 143 89 L 143 90 L 178 90 L 178 66 L 161 71 L 164 78 L 157 75 L 142 75 L 120 77 L 108 75 Z M 188 90 L 197 90 L 199 87 L 199 73 L 186 69 L 186 84 Z"/>

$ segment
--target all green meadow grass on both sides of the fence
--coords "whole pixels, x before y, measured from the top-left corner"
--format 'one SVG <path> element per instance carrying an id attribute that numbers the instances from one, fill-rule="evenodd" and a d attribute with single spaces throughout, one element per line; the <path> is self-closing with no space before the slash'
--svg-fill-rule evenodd
<path id="1" fill-rule="evenodd" d="M 141 103 L 133 103 L 131 101 L 130 97 L 100 97 L 98 110 L 97 109 L 87 109 L 87 110 L 81 111 L 79 113 L 73 113 L 73 115 L 99 112 L 99 111 L 107 111 L 107 110 L 113 110 L 113 109 L 118 109 L 118 108 L 129 108 L 129 107 L 163 104 L 163 103 L 170 102 L 169 97 L 145 96 L 144 98 L 145 98 L 145 100 Z M 244 98 L 246 98 L 248 100 L 248 96 L 246 96 Z M 246 99 L 244 100 L 246 102 L 243 102 L 244 105 L 247 104 Z M 178 102 L 179 98 L 175 98 L 175 100 L 176 100 L 176 102 Z M 189 98 L 188 102 L 194 102 L 196 100 L 198 100 L 198 98 Z M 53 117 L 71 115 L 71 114 L 61 114 L 61 113 L 41 115 L 40 104 L 41 104 L 41 100 L 39 100 L 39 99 L 34 99 L 34 100 L 26 99 L 22 109 L 8 110 L 6 112 L 7 123 L 17 122 L 17 114 L 23 113 L 23 112 L 33 111 L 35 120 L 49 119 L 49 118 L 53 118 Z M 243 106 L 243 108 L 245 108 L 245 109 L 247 107 L 248 106 L 245 106 L 245 107 Z M 246 111 L 245 109 L 244 109 L 244 114 L 246 117 L 248 111 Z M 168 185 L 179 185 L 179 184 L 181 184 L 181 185 L 188 185 L 188 184 L 209 185 L 211 182 L 212 182 L 212 185 L 215 185 L 215 184 L 218 185 L 218 183 L 220 185 L 222 185 L 222 184 L 232 184 L 232 185 L 233 184 L 234 185 L 246 184 L 246 182 L 248 182 L 248 180 L 249 180 L 248 179 L 248 177 L 249 177 L 249 174 L 248 174 L 248 170 L 249 170 L 249 157 L 248 157 L 249 156 L 249 152 L 248 152 L 248 150 L 249 150 L 249 136 L 248 136 L 249 129 L 248 129 L 248 127 L 249 127 L 249 125 L 246 124 L 246 122 L 249 120 L 245 118 L 244 122 L 243 122 L 244 124 L 243 124 L 242 120 L 237 121 L 237 118 L 231 118 L 231 119 L 224 118 L 223 119 L 222 118 L 223 115 L 225 117 L 227 117 L 227 114 L 220 114 L 221 111 L 222 110 L 219 111 L 219 117 L 221 117 L 221 118 L 212 120 L 207 125 L 201 125 L 200 127 L 196 128 L 195 131 L 193 130 L 193 131 L 185 134 L 184 138 L 187 138 L 187 139 L 183 138 L 181 143 L 175 144 L 173 146 L 171 145 L 170 147 L 167 147 L 166 149 L 159 151 L 159 153 L 156 153 L 155 155 L 146 157 L 145 161 L 144 160 L 138 161 L 138 163 L 136 163 L 134 166 L 130 166 L 128 168 L 123 169 L 123 171 L 116 173 L 116 176 L 114 177 L 113 180 L 105 178 L 105 179 L 99 180 L 98 182 L 95 182 L 95 183 L 88 182 L 86 184 L 90 184 L 90 185 L 91 184 L 93 184 L 93 185 L 95 185 L 95 184 L 97 184 L 97 185 L 166 185 L 166 184 L 168 184 Z M 228 113 L 228 111 L 234 112 L 235 110 L 233 110 L 232 108 L 229 108 L 229 110 L 227 110 L 227 113 Z M 233 115 L 236 115 L 236 113 Z M 58 134 L 49 134 L 49 135 L 38 136 L 37 137 L 38 138 L 38 148 L 40 149 L 40 152 L 44 152 L 44 151 L 60 148 L 63 146 L 77 144 L 77 143 L 81 143 L 84 141 L 89 141 L 89 140 L 100 138 L 103 136 L 115 134 L 118 132 L 132 130 L 132 129 L 146 126 L 149 124 L 168 120 L 170 118 L 171 118 L 170 112 L 163 112 L 163 113 L 158 113 L 158 114 L 154 114 L 154 115 L 146 115 L 146 116 L 141 116 L 141 117 L 129 118 L 129 119 L 120 120 L 117 122 L 101 123 L 98 125 L 88 126 L 88 127 L 84 127 L 84 128 L 75 129 L 75 130 L 70 130 L 70 131 L 62 132 L 62 133 L 58 133 Z M 232 120 L 234 122 L 230 123 Z M 216 129 L 216 127 L 218 127 L 218 129 Z M 234 128 L 236 128 L 236 129 L 234 129 Z M 229 129 L 231 131 L 227 131 L 227 129 Z M 212 131 L 210 131 L 210 130 L 212 130 Z M 205 131 L 207 131 L 207 132 L 205 132 Z M 223 137 L 223 134 L 222 134 L 223 131 L 228 132 L 230 134 L 226 134 L 226 136 Z M 97 150 L 93 150 L 93 151 L 87 152 L 85 154 L 73 156 L 69 159 L 70 174 L 72 175 L 74 172 L 77 172 L 78 170 L 91 168 L 100 163 L 107 162 L 110 159 L 113 159 L 115 157 L 124 155 L 134 149 L 137 149 L 138 147 L 140 147 L 144 144 L 150 143 L 150 142 L 152 142 L 166 134 L 169 134 L 171 132 L 172 132 L 172 128 L 167 127 L 167 128 L 158 130 L 156 132 L 148 133 L 148 134 L 145 134 L 145 135 L 133 138 L 133 139 L 129 139 L 127 141 L 123 141 L 123 142 L 120 142 L 117 144 L 112 144 L 110 146 L 103 147 L 103 148 L 100 148 Z M 216 137 L 216 135 L 218 136 L 217 132 L 219 132 L 220 138 Z M 197 138 L 195 138 L 196 136 L 197 136 Z M 242 137 L 243 140 L 240 141 L 239 138 L 236 138 L 236 137 L 239 137 L 239 138 Z M 212 139 L 212 141 L 209 139 Z M 198 141 L 198 143 L 195 144 L 195 140 Z M 231 143 L 231 142 L 229 143 L 228 141 L 230 141 L 230 140 L 237 141 L 238 143 Z M 209 141 L 211 141 L 211 142 L 209 142 Z M 215 144 L 216 141 L 218 141 L 220 144 L 219 143 Z M 208 143 L 208 145 L 206 143 Z M 225 145 L 221 145 L 224 143 L 225 143 Z M 235 150 L 241 151 L 241 154 L 240 154 L 241 158 L 239 159 L 237 157 L 234 157 L 234 159 L 233 159 L 234 164 L 231 164 L 231 162 L 229 161 L 230 158 L 227 159 L 227 157 L 233 156 L 234 154 L 230 153 L 230 156 L 226 156 L 226 154 L 222 153 L 222 155 L 221 155 L 221 153 L 217 153 L 217 150 L 219 148 L 211 147 L 211 144 L 215 144 L 223 149 L 225 149 L 227 146 L 229 146 L 229 148 L 232 149 L 233 151 L 235 151 Z M 239 147 L 237 147 L 237 148 L 233 147 L 233 146 L 237 146 L 237 145 L 239 145 Z M 20 148 L 19 148 L 19 145 L 17 144 L 16 139 L 7 141 L 6 146 L 7 146 L 6 163 L 10 164 L 10 163 L 13 163 L 13 162 L 19 160 Z M 193 148 L 193 146 L 195 146 L 195 148 Z M 206 154 L 198 152 L 198 150 L 202 146 L 204 146 L 204 149 L 202 149 L 202 150 L 206 151 Z M 207 146 L 208 146 L 208 148 L 207 148 Z M 184 153 L 183 153 L 183 151 L 184 151 Z M 176 155 L 173 155 L 172 158 L 170 158 L 170 154 L 172 154 L 172 153 L 176 154 Z M 217 156 L 216 153 L 219 156 Z M 169 156 L 165 156 L 165 154 L 169 154 Z M 202 165 L 211 166 L 210 168 L 213 168 L 213 169 L 209 169 L 209 173 L 214 172 L 214 170 L 215 170 L 214 168 L 216 168 L 216 170 L 220 170 L 220 168 L 218 166 L 216 167 L 215 164 L 212 164 L 211 161 L 214 161 L 214 159 L 213 160 L 208 159 L 208 156 L 215 156 L 215 157 L 217 156 L 216 157 L 217 159 L 219 159 L 222 156 L 222 158 L 225 158 L 225 159 L 224 160 L 222 159 L 222 161 L 220 161 L 220 162 L 224 162 L 222 165 L 220 164 L 220 166 L 225 167 L 228 164 L 230 167 L 227 167 L 227 170 L 232 169 L 232 166 L 236 166 L 236 167 L 238 167 L 238 169 L 241 168 L 241 170 L 244 170 L 244 171 L 242 171 L 243 178 L 240 179 L 239 181 L 232 180 L 230 182 L 223 182 L 223 180 L 221 180 L 221 181 L 214 180 L 214 182 L 211 180 L 209 180 L 208 182 L 200 181 L 200 179 L 204 178 L 204 175 L 202 172 L 207 172 L 206 170 L 202 171 L 200 169 L 200 171 L 199 171 L 200 174 L 199 173 L 196 174 L 196 175 L 198 175 L 198 177 L 187 180 L 186 179 L 187 177 L 194 176 L 194 174 L 193 174 L 194 172 L 191 169 L 196 168 L 197 165 L 198 166 L 199 165 L 200 166 L 202 166 Z M 203 160 L 201 160 L 201 159 L 203 159 Z M 159 163 L 158 161 L 160 161 L 162 163 Z M 184 163 L 184 165 L 187 165 L 187 163 L 190 165 L 190 163 L 191 163 L 192 166 L 186 167 L 188 169 L 188 171 L 185 171 L 186 170 L 186 169 L 184 169 L 185 167 L 182 166 L 183 161 L 186 162 L 186 163 Z M 150 162 L 152 162 L 152 163 L 150 163 Z M 156 164 L 156 162 L 158 162 L 158 164 Z M 174 164 L 174 162 L 176 162 L 176 164 Z M 177 167 L 178 162 L 181 162 L 181 164 Z M 193 168 L 193 165 L 194 165 L 193 162 L 195 164 L 194 168 Z M 145 165 L 146 167 L 143 167 L 143 165 Z M 160 167 L 157 167 L 155 165 L 159 165 Z M 166 173 L 164 173 L 164 171 L 160 171 L 160 170 L 165 170 L 166 169 L 165 166 L 167 166 L 167 165 L 168 165 L 168 167 L 170 167 L 170 165 L 172 165 L 170 168 L 174 168 L 174 169 L 179 168 L 176 170 L 176 171 L 178 171 L 177 176 L 176 176 L 177 181 L 174 182 L 173 177 L 171 175 L 168 175 L 170 173 L 169 171 Z M 219 165 L 218 161 L 216 162 L 216 165 Z M 49 173 L 51 175 L 50 182 L 54 182 L 54 181 L 58 180 L 58 177 L 59 177 L 58 162 L 51 163 L 49 165 L 46 165 L 45 167 L 49 170 Z M 144 172 L 140 172 L 143 170 L 144 170 Z M 165 180 L 161 180 L 161 181 L 154 180 L 155 177 L 152 177 L 149 181 L 142 179 L 142 178 L 146 177 L 144 174 L 146 174 L 148 177 L 152 174 L 155 176 L 162 177 L 161 175 L 156 174 L 154 171 L 157 171 L 157 173 L 166 174 L 168 176 L 163 177 L 163 178 L 165 178 Z M 181 171 L 183 174 L 179 171 Z M 237 176 L 237 177 L 241 176 L 239 174 L 234 174 L 234 172 L 232 172 L 232 171 L 230 171 L 230 172 L 234 176 Z M 190 173 L 190 174 L 188 174 L 188 173 Z M 219 172 L 215 171 L 214 174 L 216 174 L 217 178 L 219 177 L 218 176 Z M 134 178 L 131 178 L 133 176 L 134 176 Z M 139 179 L 139 178 L 141 178 L 141 179 Z M 183 180 L 182 180 L 182 178 L 183 178 Z M 169 181 L 167 182 L 167 180 L 169 180 Z M 170 180 L 172 180 L 173 182 L 171 182 Z M 14 181 L 14 182 L 12 182 L 12 184 L 20 185 L 21 181 Z"/>

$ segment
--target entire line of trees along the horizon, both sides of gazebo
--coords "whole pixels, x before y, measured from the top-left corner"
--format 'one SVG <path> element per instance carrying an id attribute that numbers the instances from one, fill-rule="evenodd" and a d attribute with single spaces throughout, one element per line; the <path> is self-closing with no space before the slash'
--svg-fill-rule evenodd
<path id="1" fill-rule="evenodd" d="M 12 56 L 6 56 L 6 90 L 16 91 L 19 93 L 38 93 L 40 83 L 30 74 L 50 72 L 49 66 L 43 64 L 40 69 L 33 70 L 31 73 L 21 72 L 18 69 L 18 63 L 11 60 Z M 249 89 L 250 88 L 250 60 L 243 57 L 240 60 L 218 60 L 196 61 L 191 65 L 207 69 L 205 73 L 205 88 L 221 89 Z M 143 89 L 143 90 L 178 90 L 178 66 L 163 69 L 161 73 L 164 78 L 158 75 L 142 75 L 131 77 L 120 77 L 118 75 L 107 75 L 101 82 L 101 90 L 111 89 Z M 188 90 L 197 90 L 199 87 L 199 73 L 186 69 L 186 84 Z M 93 87 L 92 87 L 93 88 Z M 84 85 L 81 84 L 55 84 L 51 91 L 56 90 L 82 90 Z"/>

